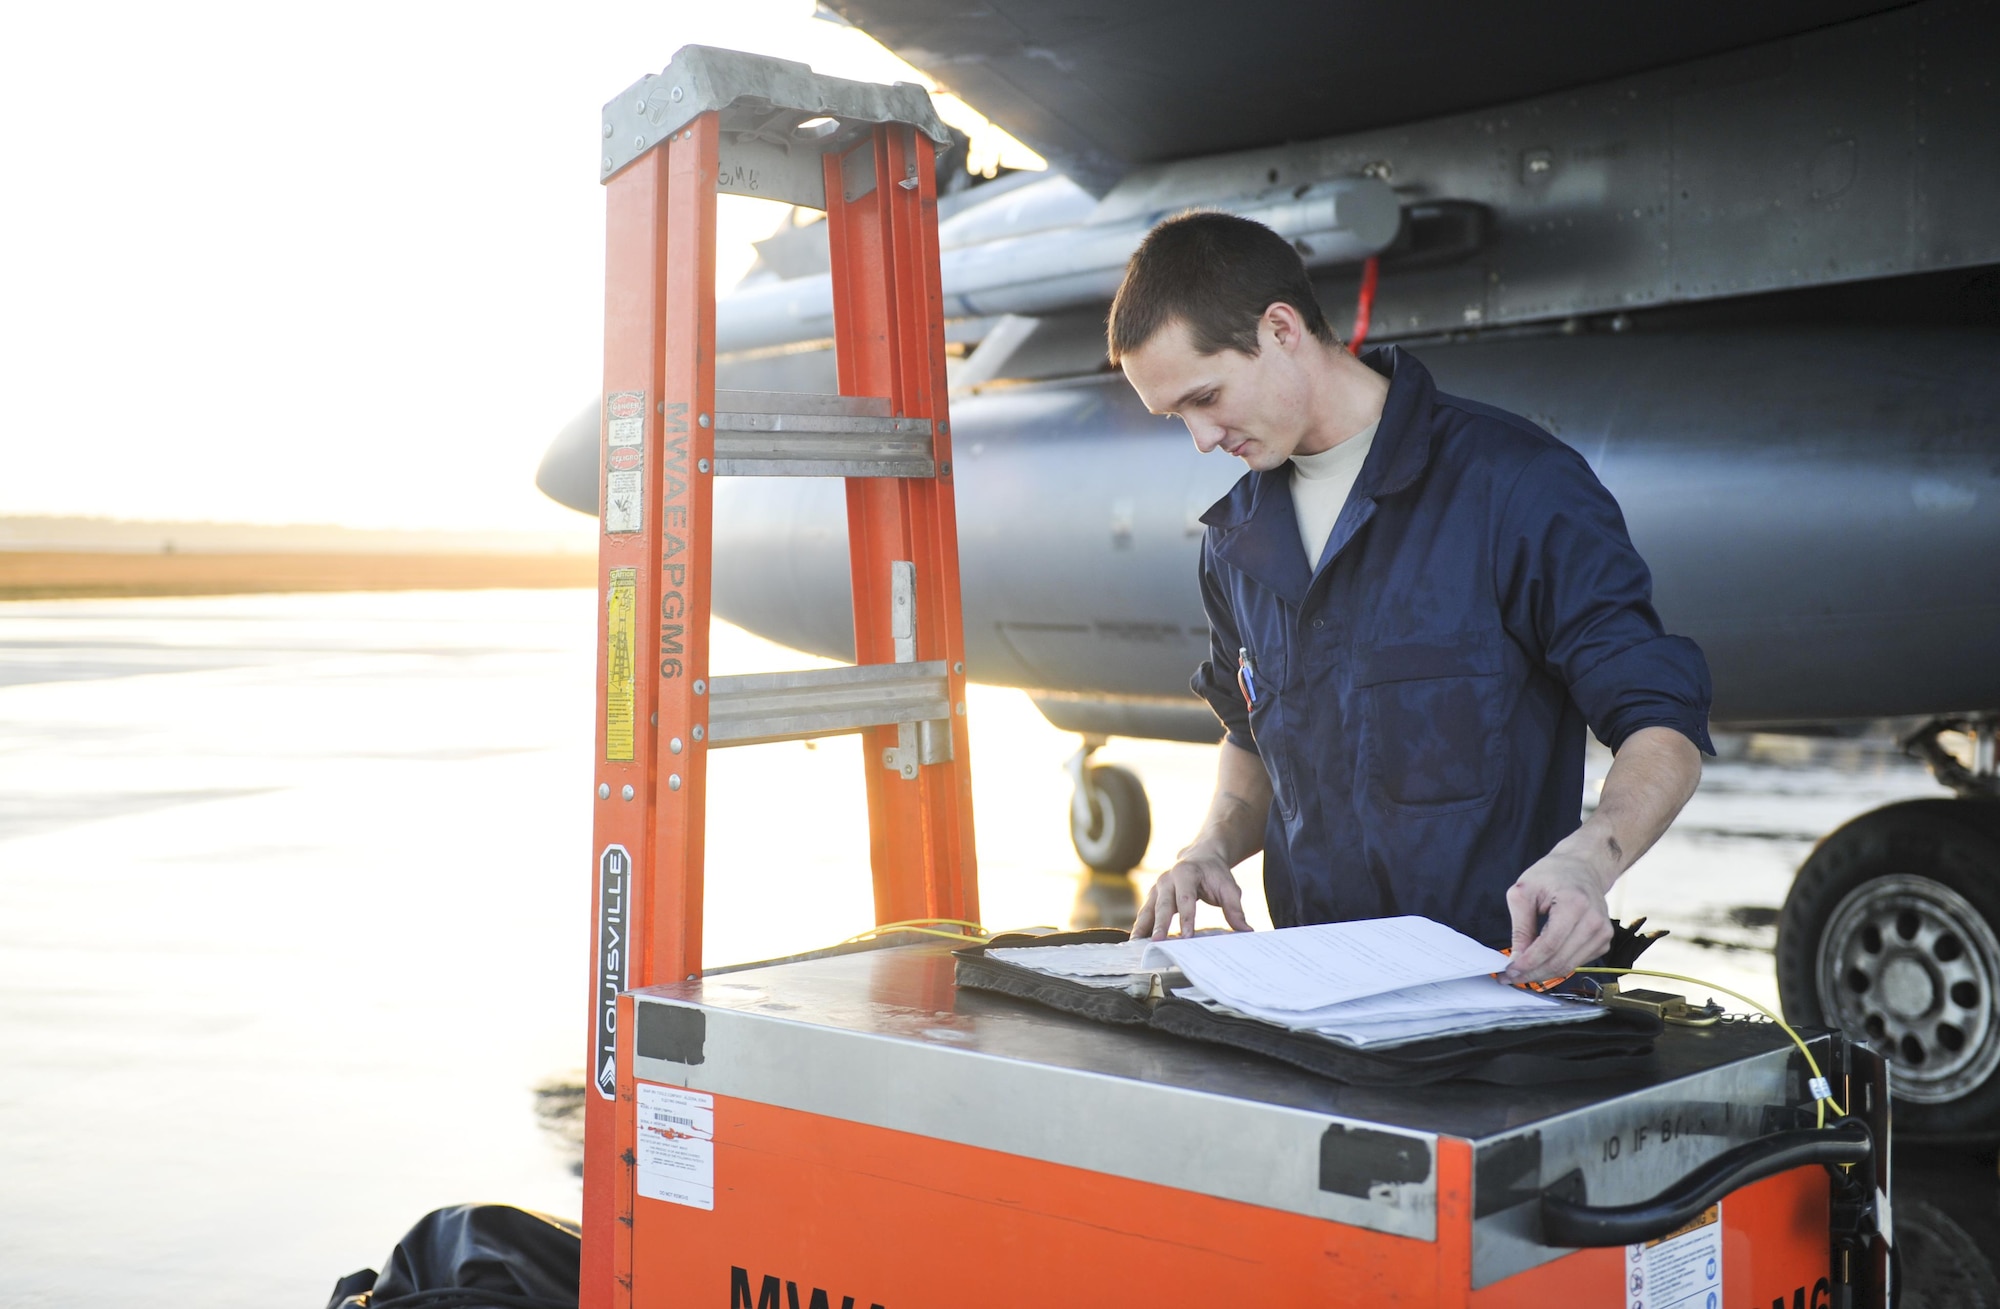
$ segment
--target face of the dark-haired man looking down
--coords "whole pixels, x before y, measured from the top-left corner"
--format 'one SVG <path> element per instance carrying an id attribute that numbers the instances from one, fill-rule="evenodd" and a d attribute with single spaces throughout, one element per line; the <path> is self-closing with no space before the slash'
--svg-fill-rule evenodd
<path id="1" fill-rule="evenodd" d="M 1308 424 L 1308 388 L 1286 322 L 1258 322 L 1258 352 L 1202 354 L 1184 322 L 1170 322 L 1120 360 L 1132 390 L 1156 414 L 1180 414 L 1194 446 L 1222 448 L 1252 468 L 1292 458 Z M 1296 344 L 1296 342 L 1294 342 Z"/>

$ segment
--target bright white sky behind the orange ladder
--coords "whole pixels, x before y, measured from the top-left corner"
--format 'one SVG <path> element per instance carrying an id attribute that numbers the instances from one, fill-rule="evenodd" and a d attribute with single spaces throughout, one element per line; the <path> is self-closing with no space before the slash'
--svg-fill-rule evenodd
<path id="1" fill-rule="evenodd" d="M 812 0 L 0 10 L 0 514 L 588 530 L 598 108 L 694 42 L 922 80 Z"/>

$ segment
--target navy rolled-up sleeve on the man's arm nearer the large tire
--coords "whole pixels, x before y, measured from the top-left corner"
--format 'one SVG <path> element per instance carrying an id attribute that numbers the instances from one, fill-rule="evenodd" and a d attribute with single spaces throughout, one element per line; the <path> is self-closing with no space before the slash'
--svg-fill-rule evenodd
<path id="1" fill-rule="evenodd" d="M 1522 468 L 1500 510 L 1494 572 L 1508 632 L 1570 689 L 1598 741 L 1618 751 L 1642 727 L 1670 727 L 1716 753 L 1708 661 L 1666 634 L 1646 560 L 1580 454 L 1556 446 Z"/>

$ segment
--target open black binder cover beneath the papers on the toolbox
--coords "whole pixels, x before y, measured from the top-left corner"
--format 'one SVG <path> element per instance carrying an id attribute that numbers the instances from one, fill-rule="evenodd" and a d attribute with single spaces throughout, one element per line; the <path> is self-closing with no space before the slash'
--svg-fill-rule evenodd
<path id="1" fill-rule="evenodd" d="M 1652 1043 L 1664 1031 L 1664 1023 L 1644 1013 L 1614 1009 L 1588 1023 L 1516 1027 L 1364 1049 L 1260 1019 L 1216 1013 L 1164 991 L 1136 997 L 1116 987 L 1050 977 L 986 955 L 992 949 L 1124 939 L 1126 933 L 1120 931 L 994 937 L 986 945 L 952 951 L 958 961 L 956 979 L 960 987 L 998 991 L 1098 1023 L 1146 1025 L 1172 1037 L 1228 1045 L 1362 1087 L 1420 1087 L 1450 1079 L 1532 1087 L 1656 1071 Z"/>

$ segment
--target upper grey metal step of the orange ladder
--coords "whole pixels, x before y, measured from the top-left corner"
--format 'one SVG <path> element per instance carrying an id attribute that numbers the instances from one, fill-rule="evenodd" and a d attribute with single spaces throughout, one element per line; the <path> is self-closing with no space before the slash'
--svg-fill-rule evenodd
<path id="1" fill-rule="evenodd" d="M 722 476 L 936 476 L 930 418 L 896 418 L 882 396 L 716 392 Z"/>

